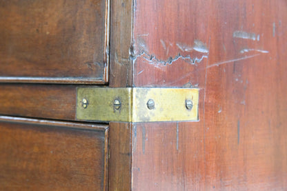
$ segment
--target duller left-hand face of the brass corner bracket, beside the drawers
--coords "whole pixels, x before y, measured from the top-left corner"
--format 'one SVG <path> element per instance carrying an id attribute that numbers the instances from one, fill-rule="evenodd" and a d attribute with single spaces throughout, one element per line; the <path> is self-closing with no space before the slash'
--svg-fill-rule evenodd
<path id="1" fill-rule="evenodd" d="M 83 99 L 88 100 L 86 108 L 81 106 Z M 132 88 L 77 88 L 77 119 L 132 121 L 131 107 Z"/>

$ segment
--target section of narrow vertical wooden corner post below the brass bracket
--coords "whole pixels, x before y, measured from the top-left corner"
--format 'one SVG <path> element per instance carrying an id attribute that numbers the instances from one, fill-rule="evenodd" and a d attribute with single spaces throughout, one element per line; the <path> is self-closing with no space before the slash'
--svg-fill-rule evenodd
<path id="1" fill-rule="evenodd" d="M 131 123 L 109 125 L 109 190 L 131 190 Z"/>

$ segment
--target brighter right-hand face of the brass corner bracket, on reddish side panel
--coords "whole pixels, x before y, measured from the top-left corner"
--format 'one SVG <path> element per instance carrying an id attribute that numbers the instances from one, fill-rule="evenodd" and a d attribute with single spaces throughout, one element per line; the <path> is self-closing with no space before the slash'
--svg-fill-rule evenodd
<path id="1" fill-rule="evenodd" d="M 186 109 L 186 99 L 192 101 L 191 110 Z M 150 110 L 146 103 L 152 100 Z M 198 89 L 187 88 L 134 88 L 132 121 L 197 121 Z"/>

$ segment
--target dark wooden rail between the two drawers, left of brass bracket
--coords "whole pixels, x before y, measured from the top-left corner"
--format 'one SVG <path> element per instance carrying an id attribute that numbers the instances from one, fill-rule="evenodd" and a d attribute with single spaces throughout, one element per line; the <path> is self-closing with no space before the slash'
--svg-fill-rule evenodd
<path id="1" fill-rule="evenodd" d="M 76 87 L 0 84 L 0 114 L 75 120 Z"/>

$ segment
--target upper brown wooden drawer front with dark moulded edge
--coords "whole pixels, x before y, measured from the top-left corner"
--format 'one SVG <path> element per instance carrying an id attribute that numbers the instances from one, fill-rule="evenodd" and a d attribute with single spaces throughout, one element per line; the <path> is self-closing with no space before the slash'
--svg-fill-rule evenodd
<path id="1" fill-rule="evenodd" d="M 0 81 L 106 83 L 108 2 L 0 1 Z"/>

